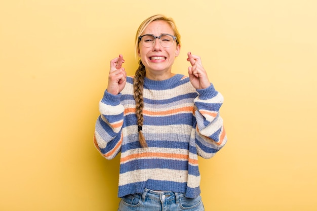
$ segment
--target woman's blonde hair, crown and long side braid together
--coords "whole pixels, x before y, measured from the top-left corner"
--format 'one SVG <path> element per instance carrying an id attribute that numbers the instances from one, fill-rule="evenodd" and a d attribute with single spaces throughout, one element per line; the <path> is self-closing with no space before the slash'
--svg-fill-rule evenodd
<path id="1" fill-rule="evenodd" d="M 139 36 L 144 32 L 145 28 L 153 21 L 163 20 L 166 21 L 174 31 L 174 36 L 176 36 L 176 44 L 181 45 L 180 42 L 180 33 L 177 30 L 176 24 L 172 18 L 168 18 L 164 15 L 153 15 L 147 19 L 145 19 L 141 25 L 139 26 L 136 36 L 135 36 L 135 52 L 138 55 L 139 51 Z M 142 133 L 142 126 L 143 126 L 143 83 L 145 77 L 145 66 L 143 65 L 141 59 L 139 60 L 139 67 L 135 72 L 134 79 L 133 79 L 133 91 L 134 91 L 134 99 L 135 99 L 135 109 L 136 109 L 136 116 L 137 116 L 137 125 L 138 125 L 138 132 L 139 132 L 139 142 L 142 147 L 147 147 L 146 140 Z"/>

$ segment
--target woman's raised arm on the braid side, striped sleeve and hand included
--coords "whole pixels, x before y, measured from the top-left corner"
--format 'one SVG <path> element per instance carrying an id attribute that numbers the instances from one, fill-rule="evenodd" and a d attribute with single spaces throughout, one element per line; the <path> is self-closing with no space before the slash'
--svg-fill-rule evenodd
<path id="1" fill-rule="evenodd" d="M 112 159 L 121 150 L 124 107 L 120 103 L 120 92 L 127 77 L 123 63 L 122 55 L 110 61 L 108 87 L 99 102 L 101 114 L 95 125 L 94 144 L 107 159 Z"/>

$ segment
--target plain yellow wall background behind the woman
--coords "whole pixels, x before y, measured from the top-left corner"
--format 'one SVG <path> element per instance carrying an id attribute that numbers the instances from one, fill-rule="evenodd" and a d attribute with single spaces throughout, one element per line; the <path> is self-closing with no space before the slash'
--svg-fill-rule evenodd
<path id="1" fill-rule="evenodd" d="M 200 159 L 206 210 L 317 210 L 314 0 L 0 3 L 0 210 L 116 210 L 119 160 L 93 146 L 110 59 L 134 74 L 148 16 L 175 19 L 224 98 L 227 145 Z"/>

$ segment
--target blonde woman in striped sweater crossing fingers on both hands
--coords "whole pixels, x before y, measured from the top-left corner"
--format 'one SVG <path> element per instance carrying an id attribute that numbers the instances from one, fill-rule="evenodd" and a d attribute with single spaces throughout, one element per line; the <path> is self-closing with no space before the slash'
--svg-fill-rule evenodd
<path id="1" fill-rule="evenodd" d="M 110 62 L 94 143 L 107 159 L 121 152 L 118 210 L 204 210 L 197 155 L 211 158 L 227 141 L 223 97 L 190 52 L 188 76 L 172 72 L 180 48 L 174 21 L 155 15 L 137 30 L 135 76 L 122 55 Z"/>

